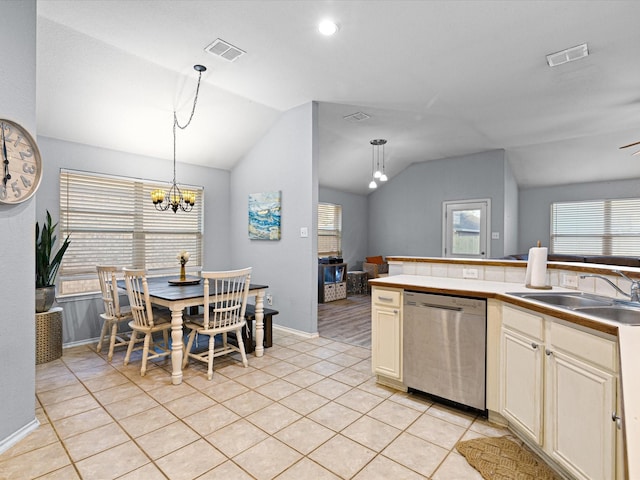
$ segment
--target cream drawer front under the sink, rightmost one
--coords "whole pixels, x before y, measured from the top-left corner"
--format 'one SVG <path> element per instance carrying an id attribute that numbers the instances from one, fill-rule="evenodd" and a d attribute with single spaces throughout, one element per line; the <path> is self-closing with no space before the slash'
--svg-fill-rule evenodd
<path id="1" fill-rule="evenodd" d="M 551 346 L 582 358 L 611 372 L 618 370 L 616 343 L 598 335 L 551 323 Z"/>

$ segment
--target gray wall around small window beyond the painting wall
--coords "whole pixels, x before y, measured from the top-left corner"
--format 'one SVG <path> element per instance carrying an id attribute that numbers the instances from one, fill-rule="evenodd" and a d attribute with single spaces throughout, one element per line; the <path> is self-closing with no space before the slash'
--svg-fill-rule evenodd
<path id="1" fill-rule="evenodd" d="M 367 197 L 320 188 L 319 201 L 342 205 L 342 258 L 349 270 L 362 268 L 367 251 Z"/>

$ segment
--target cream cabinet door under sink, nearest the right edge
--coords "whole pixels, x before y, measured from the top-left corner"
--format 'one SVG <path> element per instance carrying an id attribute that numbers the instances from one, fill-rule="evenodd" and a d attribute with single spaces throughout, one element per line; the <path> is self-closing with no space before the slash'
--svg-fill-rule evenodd
<path id="1" fill-rule="evenodd" d="M 545 450 L 575 478 L 615 478 L 614 374 L 547 350 Z"/>

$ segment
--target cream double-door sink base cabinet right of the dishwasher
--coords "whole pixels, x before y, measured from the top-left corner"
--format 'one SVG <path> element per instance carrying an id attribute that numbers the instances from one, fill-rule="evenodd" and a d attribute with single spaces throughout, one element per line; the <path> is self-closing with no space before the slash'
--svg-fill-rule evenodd
<path id="1" fill-rule="evenodd" d="M 503 306 L 500 413 L 576 479 L 616 472 L 615 339 Z"/>

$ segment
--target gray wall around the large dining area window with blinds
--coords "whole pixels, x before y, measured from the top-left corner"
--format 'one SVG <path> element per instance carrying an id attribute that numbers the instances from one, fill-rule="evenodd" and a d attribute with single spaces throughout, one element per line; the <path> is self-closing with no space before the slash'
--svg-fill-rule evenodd
<path id="1" fill-rule="evenodd" d="M 55 221 L 60 218 L 59 172 L 62 168 L 161 182 L 169 182 L 173 176 L 173 163 L 167 160 L 48 137 L 38 137 L 38 143 L 47 172 L 37 196 L 39 221 L 44 220 L 46 210 L 51 212 Z M 179 183 L 204 186 L 204 238 L 207 242 L 204 246 L 204 269 L 229 268 L 229 172 L 178 163 L 176 177 Z M 181 215 L 171 211 L 166 214 Z M 101 324 L 98 315 L 104 311 L 104 306 L 98 295 L 69 297 L 59 299 L 58 303 L 64 309 L 65 344 L 81 343 L 99 335 Z"/>

